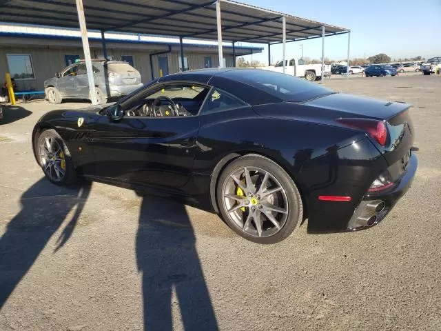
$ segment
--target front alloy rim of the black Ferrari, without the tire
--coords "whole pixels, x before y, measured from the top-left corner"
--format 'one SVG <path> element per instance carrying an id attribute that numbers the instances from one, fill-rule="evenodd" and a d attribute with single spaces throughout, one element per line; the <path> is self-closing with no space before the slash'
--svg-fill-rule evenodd
<path id="1" fill-rule="evenodd" d="M 46 136 L 39 146 L 41 167 L 52 181 L 61 181 L 65 176 L 66 163 L 63 148 L 54 139 Z"/>

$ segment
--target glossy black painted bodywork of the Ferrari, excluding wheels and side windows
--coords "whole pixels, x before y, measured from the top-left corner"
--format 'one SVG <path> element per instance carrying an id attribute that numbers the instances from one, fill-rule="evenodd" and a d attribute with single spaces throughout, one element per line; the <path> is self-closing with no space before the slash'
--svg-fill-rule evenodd
<path id="1" fill-rule="evenodd" d="M 214 190 L 223 167 L 240 155 L 261 154 L 294 179 L 305 203 L 309 228 L 314 230 L 345 230 L 363 199 L 380 197 L 393 205 L 404 194 L 416 161 L 412 161 L 413 174 L 410 170 L 397 172 L 397 184 L 390 191 L 373 196 L 367 190 L 384 170 L 390 167 L 394 171 L 412 147 L 409 105 L 329 90 L 317 96 L 313 83 L 297 79 L 296 84 L 312 85 L 302 86 L 307 91 L 304 101 L 292 102 L 289 97 L 280 97 L 283 93 L 274 94 L 265 86 L 256 88 L 249 79 L 241 83 L 234 78 L 248 72 L 184 72 L 145 87 L 147 91 L 176 81 L 206 84 L 249 104 L 243 108 L 189 117 L 125 116 L 116 122 L 103 114 L 109 105 L 56 110 L 39 120 L 33 141 L 44 128 L 54 128 L 68 145 L 80 174 L 136 190 L 172 194 L 215 212 Z M 136 93 L 140 91 L 119 103 L 130 103 Z M 308 95 L 314 99 L 308 100 Z M 302 99 L 302 94 L 296 98 Z M 79 117 L 84 118 L 82 126 L 78 126 Z M 340 117 L 384 121 L 388 128 L 386 146 L 362 130 L 337 123 L 335 119 Z M 320 201 L 320 195 L 347 196 L 351 201 Z"/>

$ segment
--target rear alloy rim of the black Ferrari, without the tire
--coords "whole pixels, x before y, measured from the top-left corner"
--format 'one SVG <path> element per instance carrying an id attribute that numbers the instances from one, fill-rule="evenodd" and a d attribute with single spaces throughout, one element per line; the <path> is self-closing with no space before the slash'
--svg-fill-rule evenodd
<path id="1" fill-rule="evenodd" d="M 273 174 L 256 167 L 239 168 L 222 190 L 228 217 L 252 237 L 269 237 L 285 225 L 289 203 L 285 189 Z"/>

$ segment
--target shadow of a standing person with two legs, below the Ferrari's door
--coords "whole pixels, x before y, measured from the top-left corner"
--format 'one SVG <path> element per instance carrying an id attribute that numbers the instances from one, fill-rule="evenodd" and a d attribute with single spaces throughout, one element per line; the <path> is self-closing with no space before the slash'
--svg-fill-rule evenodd
<path id="1" fill-rule="evenodd" d="M 185 205 L 145 196 L 139 215 L 136 259 L 145 330 L 173 330 L 173 308 L 181 312 L 184 330 L 218 330 Z"/>

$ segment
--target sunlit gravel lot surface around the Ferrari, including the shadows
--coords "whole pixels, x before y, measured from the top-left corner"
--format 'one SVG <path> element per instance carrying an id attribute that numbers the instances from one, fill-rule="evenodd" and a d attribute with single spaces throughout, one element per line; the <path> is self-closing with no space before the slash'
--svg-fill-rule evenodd
<path id="1" fill-rule="evenodd" d="M 245 241 L 174 201 L 51 185 L 30 133 L 56 106 L 7 108 L 0 330 L 441 330 L 441 78 L 325 84 L 412 103 L 420 167 L 379 225 L 308 234 L 305 224 L 276 245 Z"/>

